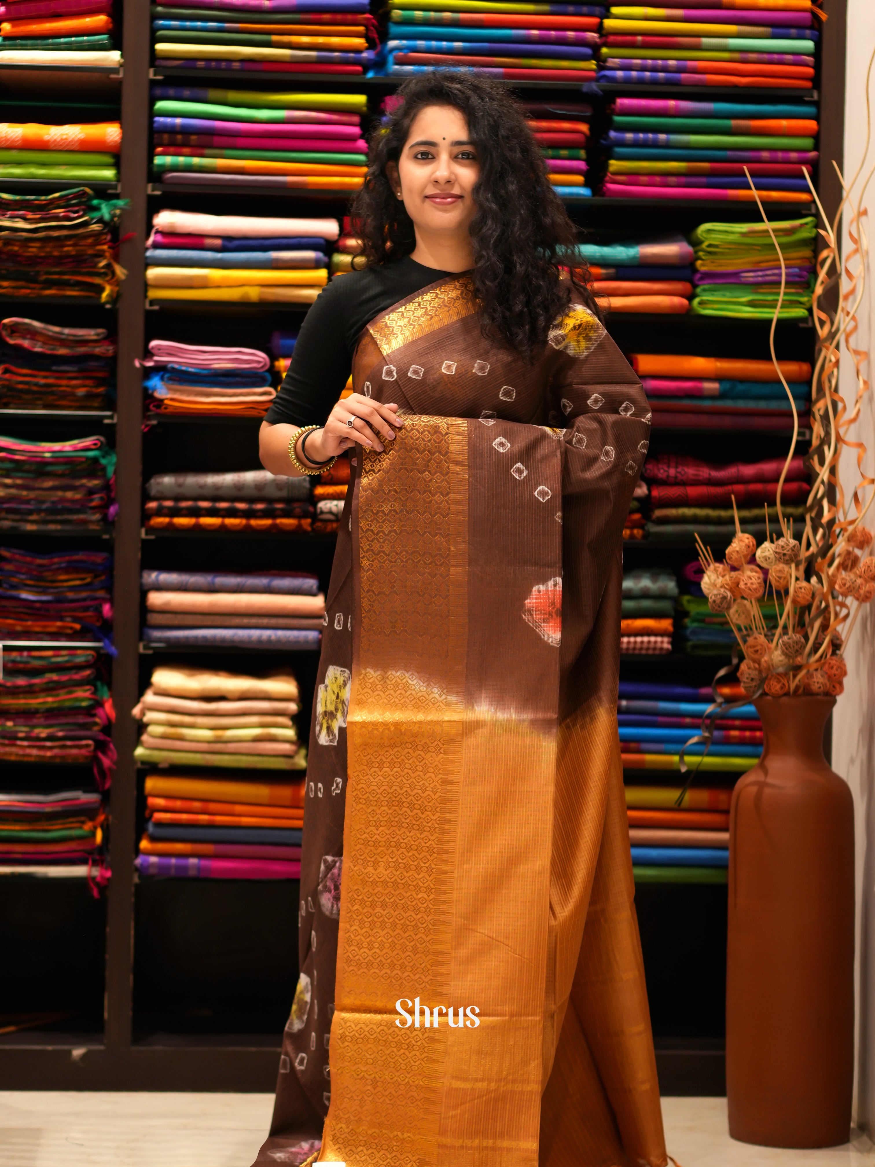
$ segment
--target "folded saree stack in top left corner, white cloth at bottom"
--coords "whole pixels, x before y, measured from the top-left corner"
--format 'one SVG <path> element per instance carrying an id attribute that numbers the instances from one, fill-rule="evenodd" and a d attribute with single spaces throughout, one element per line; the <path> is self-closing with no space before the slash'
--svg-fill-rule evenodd
<path id="1" fill-rule="evenodd" d="M 121 64 L 113 47 L 112 0 L 5 0 L 0 64 Z"/>

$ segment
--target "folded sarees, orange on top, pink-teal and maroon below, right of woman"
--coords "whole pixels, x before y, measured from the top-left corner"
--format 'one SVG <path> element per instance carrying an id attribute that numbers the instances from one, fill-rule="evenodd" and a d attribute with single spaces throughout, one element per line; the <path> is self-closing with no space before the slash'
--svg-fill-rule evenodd
<path id="1" fill-rule="evenodd" d="M 677 429 L 786 429 L 796 406 L 807 424 L 811 365 L 780 361 L 792 405 L 771 361 L 639 352 L 629 361 L 652 406 L 652 425 Z"/>

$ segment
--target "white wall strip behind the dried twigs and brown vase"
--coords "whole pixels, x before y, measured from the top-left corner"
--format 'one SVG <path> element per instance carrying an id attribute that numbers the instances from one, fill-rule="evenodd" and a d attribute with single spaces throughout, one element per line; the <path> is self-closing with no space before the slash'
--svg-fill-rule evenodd
<path id="1" fill-rule="evenodd" d="M 866 70 L 875 48 L 875 2 L 873 0 L 848 0 L 847 27 L 847 74 L 845 98 L 845 165 L 844 173 L 850 181 L 866 146 Z M 864 173 L 875 163 L 875 68 L 869 85 L 873 110 L 873 144 L 863 167 Z M 830 163 L 821 159 L 821 166 Z M 860 183 L 858 183 L 858 190 Z M 873 214 L 868 230 L 875 247 L 875 182 L 869 184 L 863 203 Z M 847 215 L 845 222 L 844 253 L 850 244 L 847 238 Z M 866 273 L 873 279 L 873 265 Z M 875 344 L 875 316 L 872 286 L 858 313 L 859 333 L 853 341 L 855 348 L 872 351 Z M 846 349 L 841 355 L 840 392 L 849 404 L 853 401 L 855 376 L 853 362 Z M 863 366 L 863 376 L 872 378 L 872 362 Z M 860 420 L 849 434 L 867 446 L 863 469 L 875 471 L 875 408 L 872 396 L 864 401 Z M 846 492 L 853 490 L 858 481 L 855 452 L 846 452 L 840 467 Z M 867 526 L 875 527 L 875 504 L 867 516 Z M 832 766 L 848 782 L 854 795 L 856 817 L 856 1082 L 854 1116 L 855 1124 L 875 1139 L 875 605 L 869 605 L 860 614 L 848 643 L 846 658 L 848 677 L 845 693 L 838 699 L 833 718 Z"/>

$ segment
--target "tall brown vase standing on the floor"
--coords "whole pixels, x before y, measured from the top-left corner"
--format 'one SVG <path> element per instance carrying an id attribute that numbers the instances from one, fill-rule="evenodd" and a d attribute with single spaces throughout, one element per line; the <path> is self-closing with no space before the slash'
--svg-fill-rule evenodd
<path id="1" fill-rule="evenodd" d="M 763 756 L 729 820 L 729 1133 L 847 1142 L 854 1076 L 854 804 L 822 750 L 832 697 L 764 697 Z"/>

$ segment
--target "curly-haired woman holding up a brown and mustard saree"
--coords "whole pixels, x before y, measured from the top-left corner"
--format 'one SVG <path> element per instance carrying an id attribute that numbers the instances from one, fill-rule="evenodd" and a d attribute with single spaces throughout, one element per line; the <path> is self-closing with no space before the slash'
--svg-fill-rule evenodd
<path id="1" fill-rule="evenodd" d="M 268 470 L 352 450 L 352 483 L 258 1163 L 662 1167 L 616 728 L 650 413 L 520 109 L 446 72 L 399 97 L 368 266 L 261 427 Z"/>

